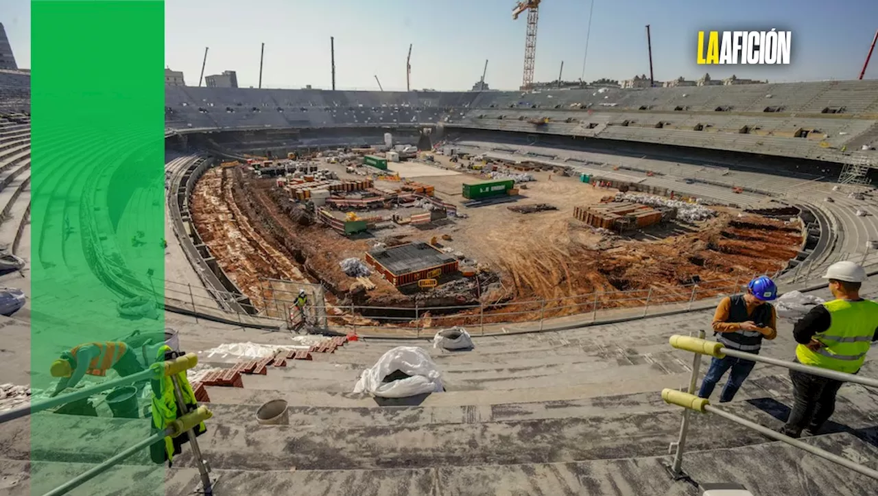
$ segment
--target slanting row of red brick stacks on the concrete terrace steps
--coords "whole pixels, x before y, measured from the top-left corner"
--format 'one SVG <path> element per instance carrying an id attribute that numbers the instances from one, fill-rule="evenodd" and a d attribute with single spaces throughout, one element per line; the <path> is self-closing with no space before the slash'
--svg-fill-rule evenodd
<path id="1" fill-rule="evenodd" d="M 330 341 L 314 345 L 311 349 L 292 349 L 278 351 L 275 355 L 259 360 L 235 363 L 230 369 L 212 370 L 201 380 L 192 383 L 192 391 L 199 402 L 210 402 L 205 386 L 244 387 L 241 374 L 266 375 L 268 367 L 286 367 L 287 360 L 312 360 L 312 353 L 334 353 L 335 349 L 344 346 L 348 341 L 356 341 L 356 336 L 335 336 Z"/>

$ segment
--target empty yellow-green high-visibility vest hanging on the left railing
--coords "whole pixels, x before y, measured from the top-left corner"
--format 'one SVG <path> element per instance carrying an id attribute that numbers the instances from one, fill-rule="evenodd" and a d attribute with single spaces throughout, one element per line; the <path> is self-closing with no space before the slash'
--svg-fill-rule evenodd
<path id="1" fill-rule="evenodd" d="M 171 351 L 171 348 L 168 345 L 164 345 L 158 349 L 156 356 L 157 361 L 164 361 L 165 354 L 169 351 Z M 191 406 L 189 409 L 190 411 L 194 410 L 195 407 L 198 406 L 198 400 L 195 399 L 195 392 L 192 391 L 189 379 L 186 378 L 185 370 L 178 372 L 176 374 L 176 379 L 177 383 L 180 385 L 180 392 L 183 393 L 183 400 L 187 405 Z M 153 379 L 152 387 L 153 399 L 150 410 L 153 413 L 153 427 L 163 430 L 164 428 L 167 428 L 171 422 L 176 421 L 180 416 L 176 405 L 174 383 L 171 381 L 170 377 L 164 376 L 159 379 Z M 193 430 L 195 435 L 202 435 L 206 432 L 207 428 L 205 427 L 205 423 L 201 422 Z M 171 438 L 166 435 L 162 446 L 163 455 L 160 452 L 156 453 L 155 451 L 157 450 L 155 449 L 150 449 L 150 455 L 156 464 L 161 464 L 167 460 L 170 466 L 174 459 L 174 455 L 181 452 L 181 445 L 187 441 L 187 435 L 180 435 L 176 438 Z"/>

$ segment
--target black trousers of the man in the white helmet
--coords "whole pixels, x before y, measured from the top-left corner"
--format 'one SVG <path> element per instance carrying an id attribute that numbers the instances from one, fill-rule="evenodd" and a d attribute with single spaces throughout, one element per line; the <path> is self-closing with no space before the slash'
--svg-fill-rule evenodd
<path id="1" fill-rule="evenodd" d="M 783 434 L 799 437 L 804 429 L 816 434 L 835 412 L 835 396 L 845 383 L 798 370 L 789 370 L 789 378 L 793 380 L 793 411 Z"/>

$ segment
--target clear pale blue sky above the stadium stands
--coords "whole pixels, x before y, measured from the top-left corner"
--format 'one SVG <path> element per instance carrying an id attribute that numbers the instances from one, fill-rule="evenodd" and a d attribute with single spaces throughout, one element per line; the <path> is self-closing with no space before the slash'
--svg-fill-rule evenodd
<path id="1" fill-rule="evenodd" d="M 565 80 L 582 75 L 590 2 L 543 0 L 536 81 L 556 79 L 561 61 Z M 0 22 L 18 65 L 29 68 L 29 2 L 0 3 Z M 328 88 L 330 36 L 339 89 L 377 90 L 378 75 L 385 90 L 404 90 L 409 43 L 413 89 L 469 89 L 486 59 L 492 88 L 515 89 L 522 81 L 526 16 L 512 20 L 511 0 L 167 0 L 165 5 L 165 60 L 184 71 L 191 85 L 198 84 L 210 47 L 205 75 L 231 69 L 242 87 L 255 86 L 264 42 L 263 87 Z M 771 81 L 854 79 L 878 29 L 878 0 L 595 0 L 585 79 L 648 75 L 646 24 L 660 81 L 704 72 Z M 772 27 L 793 32 L 789 66 L 695 64 L 699 30 Z M 878 78 L 878 54 L 866 77 Z"/>

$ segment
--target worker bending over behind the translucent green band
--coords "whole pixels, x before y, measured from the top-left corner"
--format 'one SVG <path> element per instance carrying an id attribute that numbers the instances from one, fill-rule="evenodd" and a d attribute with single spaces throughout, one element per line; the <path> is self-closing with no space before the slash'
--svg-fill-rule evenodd
<path id="1" fill-rule="evenodd" d="M 144 370 L 124 342 L 89 342 L 76 346 L 61 353 L 61 358 L 52 363 L 49 372 L 61 380 L 49 396 L 57 396 L 65 389 L 75 387 L 86 374 L 103 377 L 110 369 L 122 377 Z"/>

